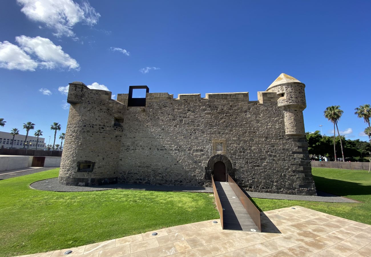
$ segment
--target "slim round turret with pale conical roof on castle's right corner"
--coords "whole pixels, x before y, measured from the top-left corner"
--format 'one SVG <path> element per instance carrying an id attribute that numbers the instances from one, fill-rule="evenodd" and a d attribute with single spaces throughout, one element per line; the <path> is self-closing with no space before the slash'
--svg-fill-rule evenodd
<path id="1" fill-rule="evenodd" d="M 298 79 L 282 73 L 266 92 L 278 94 L 278 106 L 285 115 L 286 135 L 305 135 L 303 110 L 306 108 L 305 85 Z"/>

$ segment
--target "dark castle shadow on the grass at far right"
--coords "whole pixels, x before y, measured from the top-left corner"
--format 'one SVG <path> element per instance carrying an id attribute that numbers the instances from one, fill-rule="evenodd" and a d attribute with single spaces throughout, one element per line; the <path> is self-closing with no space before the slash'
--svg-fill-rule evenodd
<path id="1" fill-rule="evenodd" d="M 333 193 L 339 196 L 370 195 L 371 185 L 362 185 L 357 182 L 349 182 L 337 179 L 328 179 L 313 175 L 316 188 L 319 191 Z"/>

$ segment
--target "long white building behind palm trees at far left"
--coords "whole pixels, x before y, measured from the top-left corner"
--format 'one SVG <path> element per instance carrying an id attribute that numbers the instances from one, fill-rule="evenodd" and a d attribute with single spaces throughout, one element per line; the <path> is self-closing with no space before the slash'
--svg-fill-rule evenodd
<path id="1" fill-rule="evenodd" d="M 16 135 L 14 137 L 13 148 L 23 148 L 24 143 L 28 145 L 28 149 L 35 149 L 37 137 L 30 136 L 31 131 L 27 137 L 27 142 L 25 142 L 26 135 Z M 12 147 L 13 135 L 8 132 L 0 131 L 0 147 Z M 30 144 L 31 143 L 31 144 Z M 26 148 L 27 148 L 26 145 Z M 44 150 L 46 148 L 45 138 L 39 137 L 39 142 L 37 143 L 37 150 Z"/>

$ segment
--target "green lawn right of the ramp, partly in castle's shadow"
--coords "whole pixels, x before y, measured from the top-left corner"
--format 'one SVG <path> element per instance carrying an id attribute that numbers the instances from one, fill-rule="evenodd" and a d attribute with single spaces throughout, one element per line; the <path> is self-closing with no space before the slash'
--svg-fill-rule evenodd
<path id="1" fill-rule="evenodd" d="M 371 173 L 366 170 L 312 168 L 318 190 L 362 203 L 329 203 L 252 198 L 262 211 L 300 205 L 371 225 Z"/>

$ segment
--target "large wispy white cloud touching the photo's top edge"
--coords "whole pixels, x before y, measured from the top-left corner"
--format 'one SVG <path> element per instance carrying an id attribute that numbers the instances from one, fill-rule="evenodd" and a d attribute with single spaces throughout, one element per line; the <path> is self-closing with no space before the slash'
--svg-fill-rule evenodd
<path id="1" fill-rule="evenodd" d="M 93 26 L 101 17 L 88 1 L 81 5 L 72 0 L 17 0 L 17 3 L 28 19 L 54 29 L 57 37 L 74 37 L 72 29 L 76 23 Z"/>

